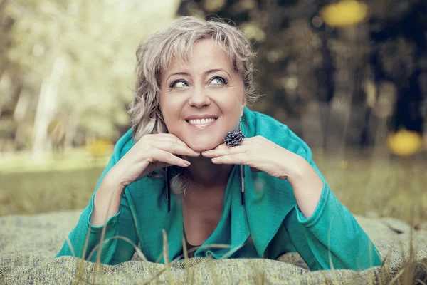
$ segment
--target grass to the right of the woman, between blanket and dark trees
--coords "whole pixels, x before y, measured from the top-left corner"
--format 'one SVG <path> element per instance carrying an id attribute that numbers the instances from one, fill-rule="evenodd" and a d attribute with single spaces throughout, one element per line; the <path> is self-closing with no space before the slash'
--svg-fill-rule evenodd
<path id="1" fill-rule="evenodd" d="M 357 151 L 345 157 L 315 153 L 332 191 L 353 214 L 393 217 L 412 225 L 427 222 L 427 160 L 371 157 Z"/>

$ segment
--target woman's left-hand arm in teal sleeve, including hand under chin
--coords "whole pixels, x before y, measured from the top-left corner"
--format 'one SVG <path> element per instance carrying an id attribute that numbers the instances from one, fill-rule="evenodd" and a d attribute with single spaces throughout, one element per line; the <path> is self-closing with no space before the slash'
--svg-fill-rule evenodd
<path id="1" fill-rule="evenodd" d="M 200 153 L 191 150 L 172 134 L 144 135 L 136 143 L 132 139 L 132 130 L 123 135 L 115 145 L 112 158 L 100 177 L 95 195 L 70 233 L 73 251 L 68 242 L 65 242 L 57 257 L 75 255 L 96 261 L 97 252 L 92 255 L 90 252 L 100 243 L 104 234 L 107 242 L 102 243 L 100 261 L 103 264 L 117 264 L 130 260 L 135 252 L 134 247 L 123 239 L 116 238 L 123 236 L 137 244 L 137 231 L 126 198 L 126 187 L 161 167 L 189 166 L 189 162 L 176 155 L 197 157 Z"/>

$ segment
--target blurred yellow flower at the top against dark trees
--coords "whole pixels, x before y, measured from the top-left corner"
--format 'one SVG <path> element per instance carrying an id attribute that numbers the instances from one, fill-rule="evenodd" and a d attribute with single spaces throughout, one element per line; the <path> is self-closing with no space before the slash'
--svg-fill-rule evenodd
<path id="1" fill-rule="evenodd" d="M 365 19 L 368 6 L 355 0 L 342 0 L 336 4 L 329 4 L 322 8 L 320 16 L 329 26 L 353 26 Z"/>

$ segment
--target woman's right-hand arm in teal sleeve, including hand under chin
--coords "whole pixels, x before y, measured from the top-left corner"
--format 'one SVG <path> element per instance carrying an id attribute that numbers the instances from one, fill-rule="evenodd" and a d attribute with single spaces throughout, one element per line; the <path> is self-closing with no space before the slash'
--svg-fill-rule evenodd
<path id="1" fill-rule="evenodd" d="M 270 123 L 264 125 L 272 126 L 271 133 L 265 134 L 282 146 L 256 135 L 245 138 L 241 145 L 219 145 L 202 155 L 216 164 L 248 165 L 251 170 L 288 180 L 297 207 L 285 227 L 310 268 L 329 269 L 334 264 L 337 269 L 359 270 L 380 265 L 374 244 L 333 195 L 307 144 L 285 125 Z"/>

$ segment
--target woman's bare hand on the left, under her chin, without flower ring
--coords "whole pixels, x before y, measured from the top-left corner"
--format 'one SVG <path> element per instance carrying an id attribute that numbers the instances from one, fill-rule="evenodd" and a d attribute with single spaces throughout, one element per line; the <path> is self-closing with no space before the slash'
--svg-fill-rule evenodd
<path id="1" fill-rule="evenodd" d="M 188 167 L 190 162 L 176 155 L 197 157 L 195 152 L 176 135 L 169 133 L 144 135 L 108 173 L 109 179 L 124 189 L 162 167 L 177 165 Z M 112 177 L 111 177 L 112 176 Z"/>

